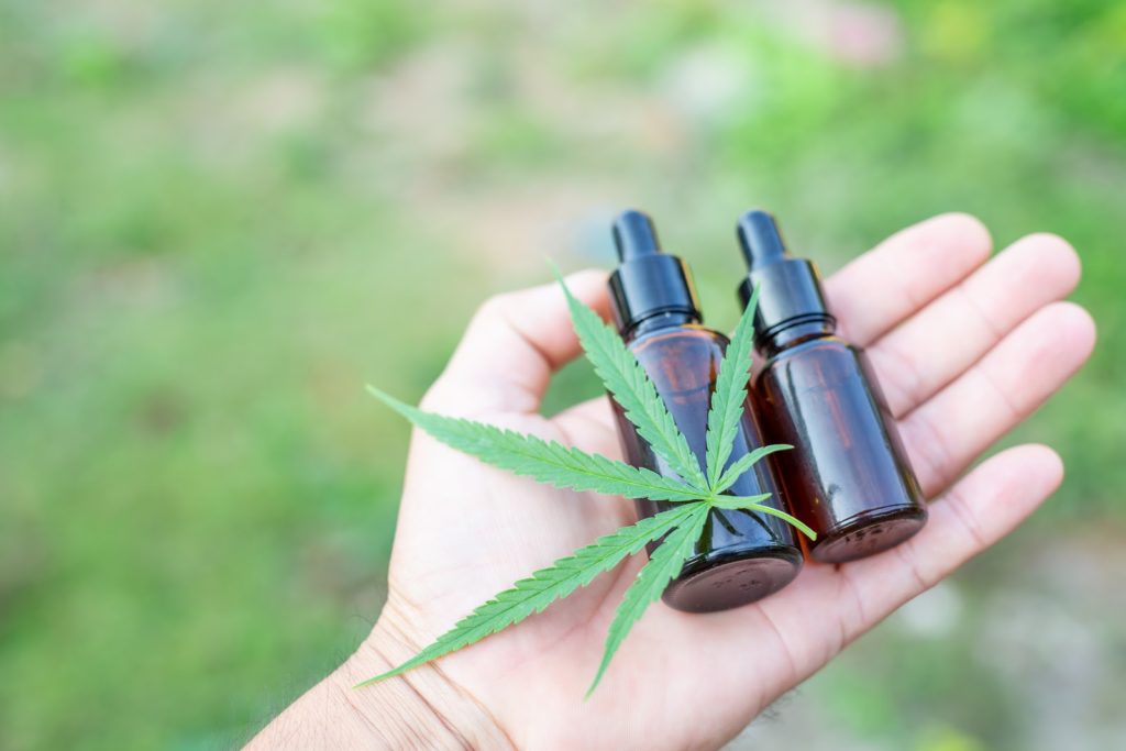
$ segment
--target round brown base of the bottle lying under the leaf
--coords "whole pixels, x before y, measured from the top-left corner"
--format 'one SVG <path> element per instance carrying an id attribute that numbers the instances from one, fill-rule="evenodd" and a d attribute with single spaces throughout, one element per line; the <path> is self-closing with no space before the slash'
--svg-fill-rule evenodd
<path id="1" fill-rule="evenodd" d="M 662 599 L 685 613 L 730 610 L 777 592 L 794 581 L 801 570 L 802 555 L 796 548 L 733 557 L 682 573 L 672 580 Z"/>

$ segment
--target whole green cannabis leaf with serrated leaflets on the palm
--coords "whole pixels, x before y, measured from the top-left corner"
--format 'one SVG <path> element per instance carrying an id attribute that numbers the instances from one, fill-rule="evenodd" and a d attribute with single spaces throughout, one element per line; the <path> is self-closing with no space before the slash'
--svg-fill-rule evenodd
<path id="1" fill-rule="evenodd" d="M 579 587 L 589 584 L 598 574 L 614 569 L 625 558 L 641 552 L 645 545 L 658 543 L 649 563 L 626 590 L 622 605 L 615 613 L 602 661 L 587 694 L 590 696 L 629 629 L 645 609 L 661 597 L 661 592 L 694 554 L 704 525 L 714 510 L 747 510 L 775 516 L 811 539 L 815 538 L 813 530 L 799 520 L 766 503 L 769 494 L 730 494 L 730 489 L 757 462 L 774 452 L 790 448 L 781 445 L 765 446 L 731 461 L 747 402 L 757 288 L 720 364 L 707 415 L 706 452 L 701 463 L 688 446 L 633 352 L 598 314 L 571 295 L 562 279 L 560 284 L 566 295 L 575 333 L 587 358 L 593 364 L 595 372 L 622 406 L 626 418 L 636 427 L 637 433 L 676 476 L 634 467 L 536 436 L 432 414 L 404 404 L 377 388 L 369 386 L 368 390 L 434 438 L 493 466 L 556 488 L 671 501 L 677 504 L 606 535 L 551 566 L 536 571 L 529 578 L 521 579 L 473 610 L 406 662 L 359 686 L 397 676 L 518 624 Z"/>

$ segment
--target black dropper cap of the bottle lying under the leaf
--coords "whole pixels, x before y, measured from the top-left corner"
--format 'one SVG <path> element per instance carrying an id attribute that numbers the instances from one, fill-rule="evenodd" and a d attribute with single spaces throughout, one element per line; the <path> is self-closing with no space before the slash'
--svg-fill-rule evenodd
<path id="1" fill-rule="evenodd" d="M 636 209 L 619 214 L 614 221 L 614 244 L 620 263 L 610 275 L 610 298 L 622 333 L 662 313 L 700 320 L 691 271 L 676 256 L 661 252 L 647 214 Z"/>

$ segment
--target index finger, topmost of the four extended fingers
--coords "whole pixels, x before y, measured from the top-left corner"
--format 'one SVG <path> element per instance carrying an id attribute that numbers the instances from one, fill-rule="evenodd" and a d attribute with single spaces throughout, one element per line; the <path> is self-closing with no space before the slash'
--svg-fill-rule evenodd
<path id="1" fill-rule="evenodd" d="M 874 341 L 989 258 L 989 230 L 942 214 L 899 232 L 825 280 L 829 309 L 852 342 Z"/>

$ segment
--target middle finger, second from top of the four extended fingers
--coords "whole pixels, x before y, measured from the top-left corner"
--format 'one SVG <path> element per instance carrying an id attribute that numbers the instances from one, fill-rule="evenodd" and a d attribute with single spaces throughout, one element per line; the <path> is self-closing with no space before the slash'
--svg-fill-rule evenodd
<path id="1" fill-rule="evenodd" d="M 1079 283 L 1079 256 L 1052 234 L 1024 238 L 868 349 L 892 413 L 914 409 L 1018 323 Z"/>

